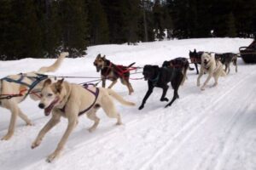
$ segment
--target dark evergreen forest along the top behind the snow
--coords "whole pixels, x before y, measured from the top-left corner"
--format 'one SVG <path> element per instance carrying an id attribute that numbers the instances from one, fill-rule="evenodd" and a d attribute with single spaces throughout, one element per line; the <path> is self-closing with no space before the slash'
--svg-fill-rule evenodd
<path id="1" fill-rule="evenodd" d="M 89 46 L 255 37 L 255 0 L 1 0 L 0 59 L 80 57 Z"/>

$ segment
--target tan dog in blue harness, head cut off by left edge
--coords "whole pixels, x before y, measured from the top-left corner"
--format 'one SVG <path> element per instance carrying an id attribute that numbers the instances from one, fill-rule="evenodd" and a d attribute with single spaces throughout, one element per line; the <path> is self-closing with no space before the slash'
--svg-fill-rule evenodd
<path id="1" fill-rule="evenodd" d="M 1 79 L 1 97 L 5 96 L 5 94 L 23 94 L 20 97 L 11 99 L 0 99 L 0 106 L 11 111 L 11 120 L 9 122 L 8 133 L 5 134 L 2 139 L 8 140 L 13 136 L 15 132 L 15 122 L 18 116 L 20 116 L 20 118 L 26 122 L 26 125 L 32 125 L 32 122 L 20 110 L 18 104 L 26 99 L 27 92 L 30 92 L 29 96 L 33 100 L 39 100 L 38 91 L 40 91 L 43 87 L 46 78 L 42 77 L 42 79 L 38 79 L 38 77 L 40 77 L 38 74 L 56 71 L 60 67 L 62 60 L 67 55 L 68 53 L 62 53 L 53 65 L 42 67 L 38 71 L 28 72 L 22 75 L 10 75 Z"/>

